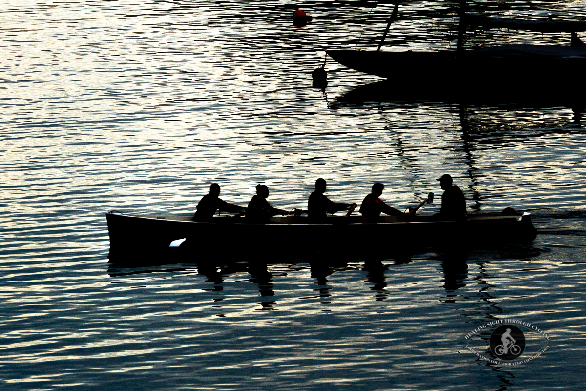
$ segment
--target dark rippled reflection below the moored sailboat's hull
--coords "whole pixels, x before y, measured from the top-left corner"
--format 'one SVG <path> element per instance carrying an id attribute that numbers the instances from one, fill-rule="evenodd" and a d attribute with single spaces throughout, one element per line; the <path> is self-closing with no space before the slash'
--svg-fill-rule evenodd
<path id="1" fill-rule="evenodd" d="M 377 114 L 397 110 L 441 110 L 458 116 L 463 140 L 503 144 L 516 138 L 546 134 L 581 134 L 586 96 L 519 93 L 507 96 L 466 94 L 446 90 L 394 89 L 391 80 L 362 84 L 329 102 L 333 108 L 373 107 Z M 394 118 L 385 120 L 394 121 Z M 517 130 L 523 132 L 516 132 Z M 466 147 L 469 148 L 469 147 Z"/>

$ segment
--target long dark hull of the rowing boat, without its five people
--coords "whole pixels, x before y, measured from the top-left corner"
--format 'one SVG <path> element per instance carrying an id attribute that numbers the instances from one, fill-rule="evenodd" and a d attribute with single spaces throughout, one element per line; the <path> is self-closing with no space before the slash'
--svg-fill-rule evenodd
<path id="1" fill-rule="evenodd" d="M 110 254 L 152 253 L 187 238 L 184 249 L 197 257 L 219 249 L 242 253 L 280 251 L 307 254 L 320 250 L 395 251 L 433 245 L 468 246 L 530 242 L 536 236 L 530 213 L 473 215 L 465 221 L 435 221 L 431 215 L 381 216 L 362 224 L 360 216 L 331 216 L 328 223 L 308 224 L 305 216 L 271 217 L 267 224 L 247 224 L 235 217 L 193 222 L 190 216 L 106 214 Z M 230 249 L 227 243 L 234 246 Z M 292 249 L 291 249 L 292 248 Z"/>

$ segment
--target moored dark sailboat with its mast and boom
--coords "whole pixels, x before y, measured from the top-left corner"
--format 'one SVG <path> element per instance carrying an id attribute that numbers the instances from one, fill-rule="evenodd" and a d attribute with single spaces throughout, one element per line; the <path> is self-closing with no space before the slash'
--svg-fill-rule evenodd
<path id="1" fill-rule="evenodd" d="M 381 52 L 379 50 L 327 50 L 336 62 L 358 72 L 393 79 L 397 86 L 447 87 L 460 93 L 482 90 L 495 96 L 531 88 L 550 93 L 551 89 L 581 94 L 586 86 L 586 45 L 577 32 L 586 30 L 582 21 L 536 21 L 490 18 L 459 11 L 456 50 L 435 52 Z M 398 1 L 387 25 L 397 15 Z M 499 45 L 464 49 L 466 29 L 510 29 L 541 33 L 571 33 L 568 46 Z M 383 36 L 384 40 L 384 36 Z M 382 45 L 382 42 L 381 42 Z M 506 86 L 503 81 L 508 81 Z"/>

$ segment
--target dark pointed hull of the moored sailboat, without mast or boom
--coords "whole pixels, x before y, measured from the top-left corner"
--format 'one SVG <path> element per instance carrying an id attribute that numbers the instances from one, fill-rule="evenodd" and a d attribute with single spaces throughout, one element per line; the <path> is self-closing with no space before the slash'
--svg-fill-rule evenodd
<path id="1" fill-rule="evenodd" d="M 549 94 L 583 94 L 586 86 L 584 47 L 510 45 L 440 52 L 328 50 L 329 56 L 358 72 L 393 79 L 397 86 L 485 89 L 507 94 L 531 89 Z M 505 87 L 506 86 L 506 87 Z"/>

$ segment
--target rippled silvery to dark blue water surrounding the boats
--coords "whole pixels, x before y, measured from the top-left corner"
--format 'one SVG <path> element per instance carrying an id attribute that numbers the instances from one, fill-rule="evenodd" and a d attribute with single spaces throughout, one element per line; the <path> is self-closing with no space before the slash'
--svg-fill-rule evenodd
<path id="1" fill-rule="evenodd" d="M 2 389 L 580 384 L 584 105 L 546 91 L 530 103 L 506 92 L 497 103 L 389 100 L 364 87 L 378 79 L 331 60 L 328 89 L 312 89 L 323 50 L 373 47 L 391 6 L 304 2 L 314 22 L 295 29 L 286 4 L 0 4 Z M 582 1 L 510 4 L 478 6 L 586 19 Z M 453 45 L 452 18 L 431 19 L 448 8 L 402 6 L 385 50 Z M 482 40 L 569 36 L 469 43 Z M 535 212 L 532 246 L 283 261 L 295 246 L 284 238 L 268 264 L 108 264 L 110 209 L 192 213 L 211 182 L 241 204 L 266 183 L 272 205 L 299 208 L 318 177 L 346 202 L 383 182 L 383 198 L 407 208 L 439 195 L 446 172 L 472 211 L 556 209 Z M 514 368 L 477 359 L 464 336 L 495 318 L 539 326 L 550 350 Z"/>

